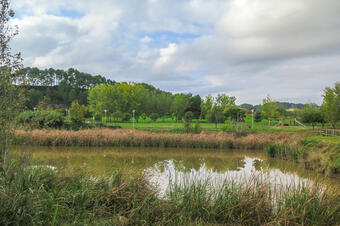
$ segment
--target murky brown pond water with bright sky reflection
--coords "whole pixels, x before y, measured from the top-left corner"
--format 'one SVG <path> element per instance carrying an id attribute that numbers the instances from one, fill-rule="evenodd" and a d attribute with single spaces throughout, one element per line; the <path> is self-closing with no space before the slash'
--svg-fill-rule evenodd
<path id="1" fill-rule="evenodd" d="M 170 181 L 209 180 L 218 186 L 225 180 L 246 183 L 253 178 L 270 182 L 273 187 L 320 182 L 340 189 L 340 178 L 328 178 L 299 164 L 268 158 L 261 150 L 16 146 L 10 158 L 21 155 L 28 156 L 34 165 L 84 170 L 94 177 L 109 176 L 117 169 L 128 174 L 146 172 L 160 192 L 169 188 Z"/>

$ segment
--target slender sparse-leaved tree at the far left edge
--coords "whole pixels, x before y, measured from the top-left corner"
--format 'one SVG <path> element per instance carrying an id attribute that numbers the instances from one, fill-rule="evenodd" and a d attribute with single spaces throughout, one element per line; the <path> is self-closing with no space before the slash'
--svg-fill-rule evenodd
<path id="1" fill-rule="evenodd" d="M 23 92 L 17 82 L 17 72 L 22 68 L 21 54 L 12 54 L 10 41 L 18 34 L 18 27 L 12 27 L 9 20 L 14 16 L 9 0 L 0 0 L 0 152 L 3 167 L 9 152 L 11 136 L 15 129 L 14 118 L 22 109 Z"/>

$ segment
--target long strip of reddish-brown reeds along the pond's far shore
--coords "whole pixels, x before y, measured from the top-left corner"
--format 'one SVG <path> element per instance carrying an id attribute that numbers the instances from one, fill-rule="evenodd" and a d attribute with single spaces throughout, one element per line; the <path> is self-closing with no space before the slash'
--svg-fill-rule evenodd
<path id="1" fill-rule="evenodd" d="M 257 133 L 236 137 L 228 133 L 153 134 L 138 130 L 93 129 L 18 130 L 13 143 L 41 146 L 118 146 L 118 147 L 183 147 L 183 148 L 243 148 L 263 149 L 273 141 L 287 143 L 301 140 L 301 135 L 291 133 Z"/>

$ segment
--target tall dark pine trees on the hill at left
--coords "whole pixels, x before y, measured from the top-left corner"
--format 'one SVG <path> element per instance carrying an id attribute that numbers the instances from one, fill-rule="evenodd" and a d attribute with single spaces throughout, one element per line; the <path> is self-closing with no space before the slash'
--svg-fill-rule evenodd
<path id="1" fill-rule="evenodd" d="M 29 91 L 26 107 L 29 109 L 36 107 L 44 97 L 48 98 L 47 104 L 52 108 L 67 108 L 74 101 L 87 104 L 88 89 L 97 84 L 115 83 L 103 76 L 93 76 L 73 68 L 64 71 L 26 67 L 19 71 L 18 79 L 27 81 Z"/>

